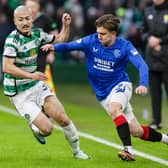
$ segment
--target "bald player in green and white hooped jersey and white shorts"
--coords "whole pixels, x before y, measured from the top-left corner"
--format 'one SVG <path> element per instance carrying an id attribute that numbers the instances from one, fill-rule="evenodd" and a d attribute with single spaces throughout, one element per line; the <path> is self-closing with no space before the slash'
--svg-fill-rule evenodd
<path id="1" fill-rule="evenodd" d="M 49 35 L 40 29 L 32 28 L 32 13 L 26 6 L 19 6 L 14 11 L 16 30 L 6 39 L 3 52 L 4 93 L 17 111 L 30 124 L 36 139 L 45 144 L 45 136 L 51 134 L 53 118 L 62 127 L 70 144 L 73 155 L 79 159 L 89 159 L 80 150 L 78 133 L 58 98 L 44 83 L 44 73 L 36 71 L 37 55 L 40 46 L 45 43 L 63 42 L 68 39 L 71 17 L 64 13 L 62 30 L 57 35 Z M 46 116 L 47 115 L 47 116 Z"/>

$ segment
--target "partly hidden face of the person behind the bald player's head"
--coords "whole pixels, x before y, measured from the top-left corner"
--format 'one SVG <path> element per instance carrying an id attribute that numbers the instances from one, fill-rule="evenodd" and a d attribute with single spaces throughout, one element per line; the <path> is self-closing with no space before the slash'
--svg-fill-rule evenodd
<path id="1" fill-rule="evenodd" d="M 38 14 L 39 10 L 40 10 L 40 6 L 37 2 L 33 2 L 33 1 L 26 1 L 25 5 L 31 9 L 32 11 L 32 15 L 33 15 L 33 19 L 36 17 L 36 15 Z"/>

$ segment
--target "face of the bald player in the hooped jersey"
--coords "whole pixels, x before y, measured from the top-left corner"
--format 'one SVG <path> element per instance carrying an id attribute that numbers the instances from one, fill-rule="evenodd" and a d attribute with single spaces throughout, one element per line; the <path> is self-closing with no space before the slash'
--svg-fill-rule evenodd
<path id="1" fill-rule="evenodd" d="M 32 14 L 29 10 L 17 11 L 17 13 L 14 15 L 14 23 L 21 33 L 25 35 L 31 34 Z"/>

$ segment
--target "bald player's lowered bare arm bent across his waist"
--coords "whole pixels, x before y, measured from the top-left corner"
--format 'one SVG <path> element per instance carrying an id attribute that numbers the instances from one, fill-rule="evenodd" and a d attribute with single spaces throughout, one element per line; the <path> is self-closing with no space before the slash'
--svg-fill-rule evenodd
<path id="1" fill-rule="evenodd" d="M 27 79 L 33 79 L 33 80 L 46 80 L 45 74 L 42 72 L 34 72 L 34 73 L 29 73 L 26 71 L 23 71 L 22 69 L 18 68 L 14 64 L 15 58 L 3 57 L 3 67 L 2 70 L 4 73 L 11 74 L 16 77 L 20 78 L 27 78 Z"/>

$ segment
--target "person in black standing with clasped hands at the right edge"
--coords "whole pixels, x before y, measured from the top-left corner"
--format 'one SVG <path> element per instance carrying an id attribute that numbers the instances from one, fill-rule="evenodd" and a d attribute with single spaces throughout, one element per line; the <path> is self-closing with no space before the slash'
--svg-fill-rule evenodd
<path id="1" fill-rule="evenodd" d="M 168 96 L 168 1 L 153 0 L 145 9 L 143 40 L 149 66 L 149 86 L 152 104 L 151 128 L 160 129 L 162 122 L 162 84 Z"/>

